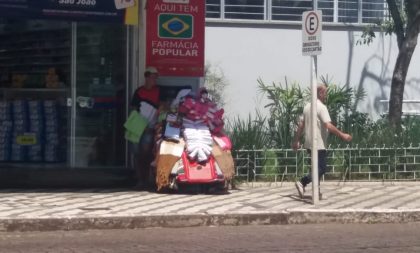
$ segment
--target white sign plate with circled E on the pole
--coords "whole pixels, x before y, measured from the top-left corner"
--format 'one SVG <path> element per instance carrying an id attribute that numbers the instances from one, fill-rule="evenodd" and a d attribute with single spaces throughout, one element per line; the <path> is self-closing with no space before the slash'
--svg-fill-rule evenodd
<path id="1" fill-rule="evenodd" d="M 322 52 L 322 11 L 305 11 L 302 15 L 302 55 Z"/>

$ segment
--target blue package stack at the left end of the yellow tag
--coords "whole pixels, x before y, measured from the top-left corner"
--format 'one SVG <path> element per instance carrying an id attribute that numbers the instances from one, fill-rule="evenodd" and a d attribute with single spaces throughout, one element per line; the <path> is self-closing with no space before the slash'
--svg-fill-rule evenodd
<path id="1" fill-rule="evenodd" d="M 28 104 L 25 100 L 12 101 L 12 153 L 11 160 L 15 162 L 26 161 L 27 147 L 18 143 L 18 136 L 24 135 L 28 131 Z"/>

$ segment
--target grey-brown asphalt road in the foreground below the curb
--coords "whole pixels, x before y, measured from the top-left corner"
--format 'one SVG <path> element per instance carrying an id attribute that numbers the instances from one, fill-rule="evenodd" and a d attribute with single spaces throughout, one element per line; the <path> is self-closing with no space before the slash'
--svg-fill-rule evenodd
<path id="1" fill-rule="evenodd" d="M 0 252 L 418 253 L 420 223 L 0 233 Z"/>

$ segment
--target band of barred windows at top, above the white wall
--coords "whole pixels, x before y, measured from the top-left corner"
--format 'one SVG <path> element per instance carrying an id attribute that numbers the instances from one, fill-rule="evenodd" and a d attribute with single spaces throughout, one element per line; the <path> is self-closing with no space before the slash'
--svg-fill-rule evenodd
<path id="1" fill-rule="evenodd" d="M 301 21 L 313 0 L 206 0 L 207 18 Z M 386 13 L 385 0 L 318 0 L 324 22 L 377 23 Z"/>

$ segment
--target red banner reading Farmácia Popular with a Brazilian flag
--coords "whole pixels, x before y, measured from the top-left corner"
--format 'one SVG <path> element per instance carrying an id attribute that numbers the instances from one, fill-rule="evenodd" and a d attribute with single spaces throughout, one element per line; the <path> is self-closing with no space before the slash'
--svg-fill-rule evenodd
<path id="1" fill-rule="evenodd" d="M 148 0 L 146 65 L 162 76 L 204 76 L 205 1 Z"/>

